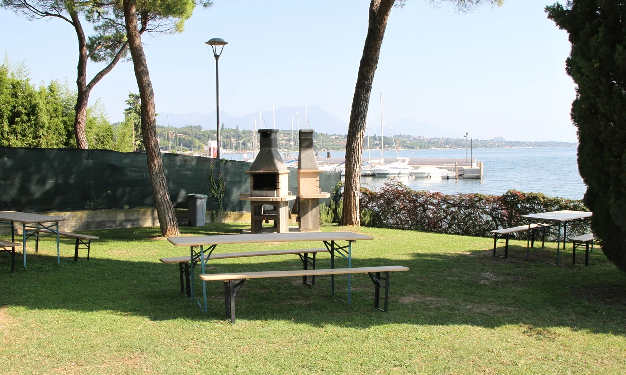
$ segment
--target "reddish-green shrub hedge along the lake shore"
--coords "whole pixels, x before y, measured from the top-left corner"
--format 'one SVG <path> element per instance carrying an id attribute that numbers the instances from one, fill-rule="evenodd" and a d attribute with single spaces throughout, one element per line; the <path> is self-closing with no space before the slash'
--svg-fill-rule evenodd
<path id="1" fill-rule="evenodd" d="M 396 179 L 371 191 L 361 188 L 362 224 L 413 231 L 491 236 L 489 231 L 528 224 L 521 215 L 548 211 L 589 211 L 582 200 L 515 190 L 501 196 L 415 191 Z M 588 232 L 588 224 L 568 223 L 568 234 Z M 520 232 L 522 237 L 525 232 Z M 551 237 L 556 235 L 552 231 Z M 547 239 L 547 237 L 546 237 Z"/>

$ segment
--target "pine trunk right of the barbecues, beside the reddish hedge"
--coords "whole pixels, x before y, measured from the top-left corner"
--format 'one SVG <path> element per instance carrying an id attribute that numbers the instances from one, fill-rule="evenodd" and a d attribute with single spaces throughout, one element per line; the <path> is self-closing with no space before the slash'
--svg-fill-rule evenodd
<path id="1" fill-rule="evenodd" d="M 381 53 L 382 38 L 387 19 L 395 0 L 372 0 L 369 4 L 369 26 L 363 47 L 363 56 L 356 79 L 350 124 L 346 143 L 346 185 L 344 187 L 344 209 L 342 225 L 361 225 L 359 194 L 361 190 L 361 161 L 365 137 L 367 109 L 372 93 L 372 82 Z"/>

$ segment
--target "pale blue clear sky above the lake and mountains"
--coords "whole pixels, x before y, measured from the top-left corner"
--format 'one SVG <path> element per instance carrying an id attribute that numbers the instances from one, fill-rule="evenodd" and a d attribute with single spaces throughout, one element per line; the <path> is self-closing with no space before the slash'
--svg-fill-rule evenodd
<path id="1" fill-rule="evenodd" d="M 394 8 L 381 50 L 379 91 L 391 121 L 411 118 L 474 138 L 576 141 L 567 33 L 546 18 L 551 0 L 505 0 L 473 13 L 411 0 Z M 215 111 L 215 60 L 205 41 L 229 42 L 220 58 L 220 108 L 233 116 L 321 106 L 348 121 L 367 32 L 369 1 L 223 1 L 197 8 L 182 34 L 145 37 L 158 113 Z M 76 35 L 64 21 L 28 21 L 0 9 L 0 49 L 26 59 L 34 82 L 76 80 Z M 100 64 L 90 63 L 91 78 Z M 96 86 L 111 121 L 137 92 L 130 62 Z M 290 124 L 285 124 L 287 128 Z M 280 126 L 279 126 L 280 127 Z"/>

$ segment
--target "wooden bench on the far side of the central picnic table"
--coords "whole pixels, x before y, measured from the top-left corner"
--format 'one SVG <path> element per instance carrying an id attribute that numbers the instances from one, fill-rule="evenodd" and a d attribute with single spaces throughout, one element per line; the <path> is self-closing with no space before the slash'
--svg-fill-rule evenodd
<path id="1" fill-rule="evenodd" d="M 316 267 L 316 254 L 318 252 L 328 252 L 324 247 L 317 249 L 294 249 L 294 250 L 269 250 L 269 251 L 250 251 L 250 252 L 230 252 L 228 254 L 205 254 L 204 259 L 230 259 L 237 257 L 250 257 L 250 256 L 270 256 L 270 255 L 290 255 L 297 254 L 302 260 L 302 269 L 308 269 L 309 266 L 312 269 Z M 309 254 L 312 257 L 309 258 Z M 160 261 L 167 264 L 178 263 L 178 269 L 180 271 L 180 292 L 187 297 L 191 297 L 190 278 L 189 278 L 189 266 L 191 256 L 179 256 L 170 258 L 161 258 Z M 311 277 L 310 284 L 307 282 L 307 276 L 302 276 L 302 284 L 314 285 L 315 276 Z"/>

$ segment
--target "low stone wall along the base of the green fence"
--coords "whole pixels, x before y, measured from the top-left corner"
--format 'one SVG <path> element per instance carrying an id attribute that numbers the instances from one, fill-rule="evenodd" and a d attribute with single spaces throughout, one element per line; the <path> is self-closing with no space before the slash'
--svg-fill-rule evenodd
<path id="1" fill-rule="evenodd" d="M 187 225 L 189 219 L 186 209 L 175 209 L 178 224 Z M 63 216 L 68 220 L 59 222 L 59 229 L 64 232 L 96 231 L 100 229 L 116 229 L 128 227 L 158 226 L 156 208 L 138 209 L 103 209 L 94 211 L 69 212 L 41 212 L 43 215 Z M 206 222 L 211 222 L 210 212 L 207 211 Z M 250 212 L 222 212 L 215 218 L 216 222 L 248 222 Z M 294 224 L 295 220 L 290 220 Z M 3 227 L 0 235 L 10 234 L 11 229 Z"/>

